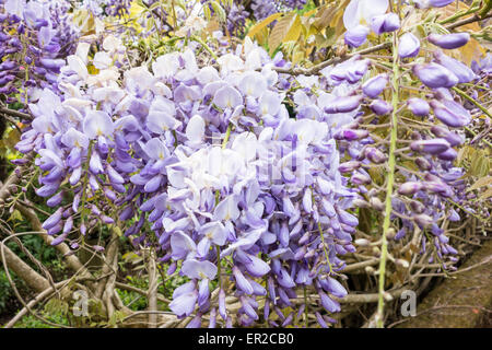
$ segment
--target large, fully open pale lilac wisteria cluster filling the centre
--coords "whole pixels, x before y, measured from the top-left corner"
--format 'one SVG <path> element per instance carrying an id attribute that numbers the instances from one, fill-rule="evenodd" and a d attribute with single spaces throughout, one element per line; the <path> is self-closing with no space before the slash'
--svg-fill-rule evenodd
<path id="1" fill-rule="evenodd" d="M 300 285 L 315 285 L 325 308 L 339 311 L 327 293 L 345 293 L 333 277 L 343 268 L 338 256 L 354 250 L 358 220 L 347 210 L 355 195 L 341 178 L 328 125 L 289 117 L 267 52 L 246 43 L 219 57 L 219 70 L 199 68 L 189 49 L 168 54 L 152 73 L 125 71 L 121 86 L 116 68 L 97 56 L 97 74 L 87 73 L 83 56 L 68 57 L 62 95 L 45 90 L 30 106 L 33 129 L 17 144 L 34 148 L 47 172 L 37 194 L 59 207 L 44 222 L 56 243 L 78 213 L 82 234 L 94 220 L 115 222 L 104 201 L 86 200 L 101 194 L 124 206 L 120 221 L 134 218 L 126 231 L 133 244 L 155 245 L 161 260 L 175 261 L 171 269 L 181 262 L 191 281 L 169 305 L 178 316 L 197 305 L 200 315 L 216 307 L 209 283 L 218 280 L 219 314 L 227 322 L 230 281 L 218 273 L 221 265 L 232 268 L 243 325 L 258 319 L 257 299 L 267 294 L 282 315 L 278 307 L 292 305 Z M 74 197 L 60 206 L 66 182 Z M 142 230 L 145 222 L 151 232 Z M 293 319 L 283 318 L 283 326 Z"/>

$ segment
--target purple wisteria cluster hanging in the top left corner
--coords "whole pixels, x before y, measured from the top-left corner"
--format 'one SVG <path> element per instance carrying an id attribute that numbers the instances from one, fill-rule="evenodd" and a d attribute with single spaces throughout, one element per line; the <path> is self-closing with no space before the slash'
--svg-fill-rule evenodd
<path id="1" fill-rule="evenodd" d="M 65 57 L 77 46 L 78 31 L 68 1 L 4 0 L 0 12 L 0 94 L 35 100 L 38 88 L 57 89 Z M 19 77 L 22 77 L 19 79 Z"/>

